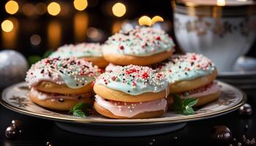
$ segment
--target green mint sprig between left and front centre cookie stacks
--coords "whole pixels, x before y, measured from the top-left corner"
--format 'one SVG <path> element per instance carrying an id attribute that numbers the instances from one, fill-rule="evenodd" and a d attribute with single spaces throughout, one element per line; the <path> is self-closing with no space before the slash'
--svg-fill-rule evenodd
<path id="1" fill-rule="evenodd" d="M 91 110 L 91 106 L 89 104 L 79 102 L 78 104 L 75 104 L 69 112 L 71 112 L 75 117 L 85 118 L 89 115 L 89 110 Z"/>

